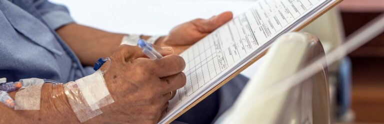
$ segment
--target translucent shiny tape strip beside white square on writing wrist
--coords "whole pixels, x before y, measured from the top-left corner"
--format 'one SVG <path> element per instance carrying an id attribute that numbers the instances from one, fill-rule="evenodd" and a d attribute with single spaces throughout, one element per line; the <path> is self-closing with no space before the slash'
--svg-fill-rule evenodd
<path id="1" fill-rule="evenodd" d="M 99 109 L 90 109 L 90 106 L 85 101 L 83 95 L 78 89 L 78 85 L 75 82 L 68 82 L 64 84 L 64 93 L 72 111 L 81 123 L 102 114 Z"/>

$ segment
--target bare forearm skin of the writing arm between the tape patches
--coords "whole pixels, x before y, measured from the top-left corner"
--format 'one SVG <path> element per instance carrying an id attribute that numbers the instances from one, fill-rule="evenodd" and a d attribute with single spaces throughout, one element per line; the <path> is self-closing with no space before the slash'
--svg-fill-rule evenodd
<path id="1" fill-rule="evenodd" d="M 64 94 L 63 85 L 44 84 L 40 110 L 13 110 L 0 105 L 0 124 L 77 124 L 79 123 Z M 14 99 L 16 92 L 9 95 Z"/>

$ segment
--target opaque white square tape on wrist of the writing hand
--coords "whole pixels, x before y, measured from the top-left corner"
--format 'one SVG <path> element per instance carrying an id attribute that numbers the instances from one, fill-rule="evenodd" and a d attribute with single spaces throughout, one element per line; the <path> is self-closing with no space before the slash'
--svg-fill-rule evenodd
<path id="1" fill-rule="evenodd" d="M 102 72 L 97 70 L 95 73 L 75 81 L 78 89 L 84 97 L 91 110 L 96 110 L 113 103 L 109 95 Z"/>

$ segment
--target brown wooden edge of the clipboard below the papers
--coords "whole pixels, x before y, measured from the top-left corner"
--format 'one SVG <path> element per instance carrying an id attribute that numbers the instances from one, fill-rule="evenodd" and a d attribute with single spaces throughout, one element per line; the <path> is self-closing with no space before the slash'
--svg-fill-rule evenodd
<path id="1" fill-rule="evenodd" d="M 337 4 L 339 4 L 342 0 L 336 0 L 336 2 L 332 3 L 331 5 L 329 5 L 328 7 L 326 7 L 324 10 L 320 11 L 317 15 L 315 15 L 314 17 L 312 17 L 311 19 L 309 19 L 308 21 L 306 21 L 305 23 L 303 23 L 301 26 L 297 27 L 297 29 L 293 30 L 293 31 L 300 31 L 302 28 L 304 28 L 305 26 L 307 26 L 309 23 L 311 23 L 312 21 L 314 21 L 315 19 L 317 19 L 318 17 L 320 17 L 321 15 L 323 15 L 325 12 L 327 12 L 328 10 L 330 10 L 331 8 L 335 7 Z M 192 104 L 190 104 L 188 107 L 186 107 L 184 110 L 182 110 L 180 113 L 178 113 L 176 116 L 174 116 L 172 119 L 170 119 L 168 122 L 166 122 L 165 124 L 170 124 L 171 122 L 173 122 L 174 120 L 176 120 L 178 117 L 180 117 L 182 114 L 184 114 L 186 111 L 188 111 L 189 109 L 191 109 L 192 107 L 194 107 L 195 105 L 197 105 L 198 103 L 200 103 L 202 100 L 204 100 L 206 97 L 208 97 L 209 95 L 211 95 L 213 92 L 215 92 L 217 89 L 219 89 L 220 87 L 222 87 L 223 85 L 225 85 L 228 81 L 230 81 L 231 79 L 233 79 L 234 77 L 236 77 L 238 74 L 240 74 L 243 70 L 245 70 L 246 68 L 248 68 L 250 65 L 252 65 L 254 62 L 256 62 L 257 60 L 259 60 L 261 57 L 263 57 L 266 52 L 268 50 L 265 50 L 264 52 L 262 52 L 260 55 L 258 55 L 256 58 L 254 58 L 253 60 L 251 60 L 250 62 L 248 62 L 247 64 L 245 64 L 243 67 L 241 67 L 240 69 L 238 69 L 236 72 L 234 72 L 232 75 L 230 75 L 228 78 L 226 78 L 224 81 L 222 81 L 221 83 L 219 83 L 218 85 L 216 85 L 214 88 L 212 88 L 211 90 L 209 90 L 208 92 L 206 92 L 204 95 L 202 95 L 200 98 L 198 98 L 196 101 L 194 101 Z"/>

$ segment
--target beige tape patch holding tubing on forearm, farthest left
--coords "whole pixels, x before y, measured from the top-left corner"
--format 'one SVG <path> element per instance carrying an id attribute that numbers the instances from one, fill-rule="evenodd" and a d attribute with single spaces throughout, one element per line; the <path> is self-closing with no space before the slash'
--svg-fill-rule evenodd
<path id="1" fill-rule="evenodd" d="M 22 90 L 16 92 L 14 110 L 40 110 L 41 88 L 44 80 L 38 78 L 22 79 Z"/>

